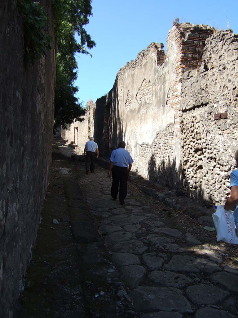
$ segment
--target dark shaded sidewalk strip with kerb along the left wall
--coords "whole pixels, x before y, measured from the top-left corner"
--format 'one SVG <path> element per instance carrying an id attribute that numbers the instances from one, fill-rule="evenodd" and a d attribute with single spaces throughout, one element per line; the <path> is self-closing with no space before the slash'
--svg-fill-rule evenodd
<path id="1" fill-rule="evenodd" d="M 60 145 L 14 318 L 135 317 L 78 180 L 85 169 Z M 57 152 L 57 146 L 53 147 Z M 67 159 L 68 157 L 68 159 Z"/>

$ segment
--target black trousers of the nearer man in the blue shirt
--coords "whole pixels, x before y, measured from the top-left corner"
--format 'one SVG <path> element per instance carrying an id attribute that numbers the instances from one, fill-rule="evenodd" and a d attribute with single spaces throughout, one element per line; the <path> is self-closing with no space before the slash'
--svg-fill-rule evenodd
<path id="1" fill-rule="evenodd" d="M 111 196 L 116 199 L 119 188 L 119 201 L 123 202 L 127 195 L 127 179 L 128 179 L 128 169 L 118 166 L 113 166 L 112 168 L 112 187 Z"/>

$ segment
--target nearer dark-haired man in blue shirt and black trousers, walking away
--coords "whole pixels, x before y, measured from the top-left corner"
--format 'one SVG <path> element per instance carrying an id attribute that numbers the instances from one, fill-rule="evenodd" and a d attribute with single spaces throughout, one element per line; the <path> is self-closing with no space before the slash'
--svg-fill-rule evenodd
<path id="1" fill-rule="evenodd" d="M 118 187 L 119 201 L 124 204 L 124 199 L 127 196 L 127 180 L 131 170 L 133 159 L 129 151 L 125 150 L 126 143 L 120 141 L 118 149 L 113 150 L 110 158 L 110 166 L 108 176 L 112 175 L 111 197 L 116 200 Z"/>

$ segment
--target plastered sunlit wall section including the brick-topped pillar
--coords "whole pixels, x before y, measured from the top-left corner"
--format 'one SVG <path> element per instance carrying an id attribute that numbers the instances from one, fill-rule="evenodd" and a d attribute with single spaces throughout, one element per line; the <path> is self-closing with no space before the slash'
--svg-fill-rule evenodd
<path id="1" fill-rule="evenodd" d="M 210 27 L 174 25 L 163 45 L 151 43 L 120 69 L 113 86 L 111 145 L 124 139 L 142 176 L 181 182 L 182 75 L 197 68 Z M 164 178 L 165 177 L 165 178 Z"/>

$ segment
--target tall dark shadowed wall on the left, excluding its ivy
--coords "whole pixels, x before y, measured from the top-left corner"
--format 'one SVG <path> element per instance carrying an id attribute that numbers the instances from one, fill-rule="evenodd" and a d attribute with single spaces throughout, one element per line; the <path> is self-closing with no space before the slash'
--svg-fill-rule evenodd
<path id="1" fill-rule="evenodd" d="M 41 2 L 43 5 L 44 1 Z M 49 5 L 49 6 L 48 6 Z M 46 10 L 50 13 L 50 2 Z M 54 36 L 51 20 L 50 34 Z M 24 60 L 14 1 L 0 3 L 0 316 L 13 316 L 49 183 L 55 52 Z"/>

